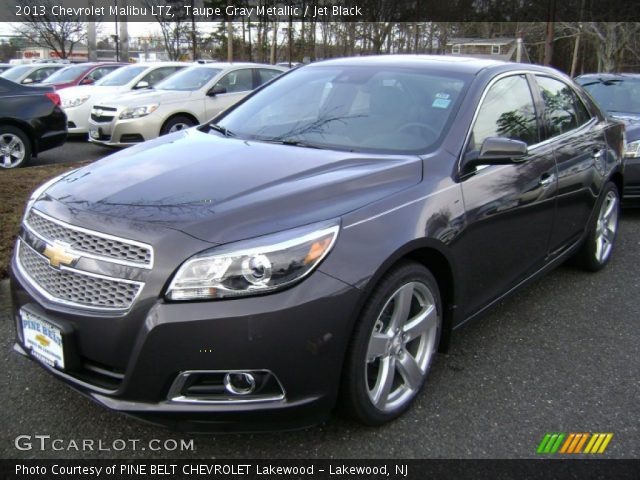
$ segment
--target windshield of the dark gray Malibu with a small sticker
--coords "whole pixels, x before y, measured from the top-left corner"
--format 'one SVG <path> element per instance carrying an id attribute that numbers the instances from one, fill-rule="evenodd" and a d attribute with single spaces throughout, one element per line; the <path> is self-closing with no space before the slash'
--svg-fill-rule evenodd
<path id="1" fill-rule="evenodd" d="M 389 153 L 435 146 L 467 77 L 394 67 L 305 67 L 229 112 L 235 136 L 321 148 Z"/>

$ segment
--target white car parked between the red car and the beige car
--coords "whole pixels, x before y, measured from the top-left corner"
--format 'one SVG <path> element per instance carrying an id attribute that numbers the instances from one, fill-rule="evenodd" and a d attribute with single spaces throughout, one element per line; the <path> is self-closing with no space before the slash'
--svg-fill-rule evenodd
<path id="1" fill-rule="evenodd" d="M 120 68 L 94 85 L 70 87 L 60 92 L 67 113 L 69 134 L 87 135 L 89 116 L 96 102 L 115 99 L 125 93 L 154 87 L 158 82 L 189 66 L 181 62 L 134 64 Z"/>

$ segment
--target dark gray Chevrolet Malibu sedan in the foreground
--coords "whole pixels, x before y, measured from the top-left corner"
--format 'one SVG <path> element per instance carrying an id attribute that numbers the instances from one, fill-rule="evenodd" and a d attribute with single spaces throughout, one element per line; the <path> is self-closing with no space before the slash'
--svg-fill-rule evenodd
<path id="1" fill-rule="evenodd" d="M 382 424 L 465 321 L 569 258 L 607 264 L 622 150 L 549 68 L 294 69 L 33 194 L 15 349 L 175 428 L 293 428 L 338 404 Z"/>

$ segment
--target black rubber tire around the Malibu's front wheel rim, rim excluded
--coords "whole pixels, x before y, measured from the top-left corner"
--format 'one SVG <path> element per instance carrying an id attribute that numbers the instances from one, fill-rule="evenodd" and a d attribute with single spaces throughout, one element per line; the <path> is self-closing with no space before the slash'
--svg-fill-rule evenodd
<path id="1" fill-rule="evenodd" d="M 406 262 L 387 273 L 379 284 L 375 287 L 367 300 L 358 323 L 354 329 L 351 345 L 347 355 L 345 373 L 343 375 L 343 399 L 342 407 L 345 408 L 349 416 L 354 417 L 367 425 L 381 425 L 389 422 L 404 413 L 413 403 L 417 394 L 401 407 L 382 412 L 377 409 L 369 399 L 365 378 L 365 357 L 368 349 L 369 338 L 374 324 L 378 319 L 382 308 L 402 285 L 419 281 L 427 285 L 431 290 L 436 302 L 438 316 L 442 319 L 442 304 L 438 283 L 431 272 L 423 265 L 414 262 Z M 440 335 L 442 333 L 442 320 L 438 327 L 434 355 L 437 352 Z M 429 371 L 427 370 L 424 379 Z M 418 388 L 418 392 L 422 388 Z"/>

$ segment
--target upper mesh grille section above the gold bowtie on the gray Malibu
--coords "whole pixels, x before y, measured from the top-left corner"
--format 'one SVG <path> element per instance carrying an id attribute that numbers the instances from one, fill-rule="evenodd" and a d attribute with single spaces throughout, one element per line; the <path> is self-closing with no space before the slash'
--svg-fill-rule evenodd
<path id="1" fill-rule="evenodd" d="M 151 247 L 118 240 L 111 236 L 89 233 L 79 227 L 53 221 L 35 210 L 31 210 L 27 217 L 28 227 L 47 241 L 62 241 L 77 251 L 88 253 L 105 260 L 115 260 L 116 263 L 133 264 L 135 266 L 150 266 L 152 263 Z"/>

